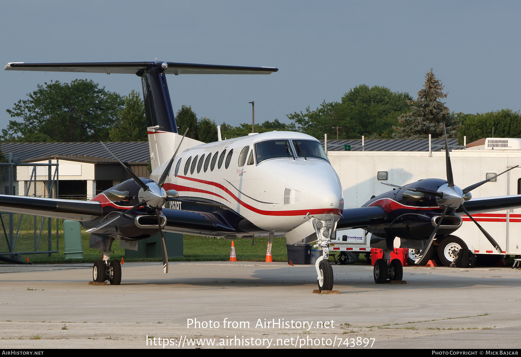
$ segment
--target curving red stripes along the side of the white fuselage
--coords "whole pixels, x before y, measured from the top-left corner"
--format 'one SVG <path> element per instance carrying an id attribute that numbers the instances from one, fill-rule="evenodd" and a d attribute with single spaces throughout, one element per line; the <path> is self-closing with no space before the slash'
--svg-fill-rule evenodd
<path id="1" fill-rule="evenodd" d="M 193 178 L 193 177 L 186 177 L 186 176 L 177 176 L 177 177 L 185 179 L 185 180 L 195 181 L 195 182 L 204 183 L 204 184 L 208 184 L 210 186 L 217 187 L 218 189 L 221 189 L 222 191 L 225 191 L 226 193 L 228 193 L 241 206 L 247 208 L 248 210 L 250 210 L 252 212 L 255 212 L 255 213 L 258 213 L 258 214 L 262 214 L 264 216 L 299 216 L 299 215 L 305 215 L 306 213 L 309 213 L 310 215 L 326 214 L 326 213 L 332 213 L 332 214 L 336 214 L 336 215 L 339 215 L 339 216 L 342 215 L 342 210 L 339 210 L 338 208 L 319 208 L 317 210 L 295 210 L 295 211 L 265 211 L 265 210 L 259 210 L 259 208 L 253 207 L 253 206 L 251 206 L 251 205 L 241 201 L 236 195 L 234 195 L 230 190 L 228 190 L 226 187 L 222 186 L 222 184 L 220 184 L 220 183 L 213 182 L 213 181 L 196 179 L 196 178 Z M 171 187 L 176 187 L 178 185 L 175 185 L 173 183 L 165 183 L 164 186 L 166 186 L 166 187 L 170 187 L 170 186 Z M 184 186 L 178 186 L 178 187 L 184 187 Z M 179 191 L 179 190 L 177 190 L 177 191 Z M 216 194 L 214 192 L 210 192 L 210 191 L 194 189 L 194 188 L 191 188 L 191 187 L 189 188 L 188 191 L 190 191 L 190 192 L 207 193 L 207 194 L 211 194 L 211 195 L 214 195 L 214 196 L 218 196 L 218 197 L 226 200 L 221 195 Z M 226 200 L 226 201 L 228 201 L 228 200 Z M 228 202 L 230 202 L 230 201 L 228 201 Z"/>

